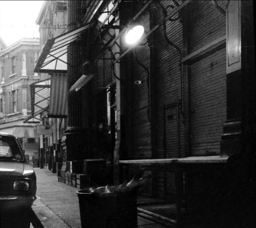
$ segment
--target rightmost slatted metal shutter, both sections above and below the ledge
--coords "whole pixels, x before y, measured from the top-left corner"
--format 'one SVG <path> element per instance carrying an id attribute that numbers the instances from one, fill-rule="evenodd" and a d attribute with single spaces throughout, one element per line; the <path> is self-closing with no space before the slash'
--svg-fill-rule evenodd
<path id="1" fill-rule="evenodd" d="M 225 1 L 218 1 L 223 8 Z M 190 3 L 190 53 L 226 33 L 226 18 L 211 1 Z M 220 154 L 226 120 L 226 49 L 189 67 L 191 99 L 191 155 Z"/>

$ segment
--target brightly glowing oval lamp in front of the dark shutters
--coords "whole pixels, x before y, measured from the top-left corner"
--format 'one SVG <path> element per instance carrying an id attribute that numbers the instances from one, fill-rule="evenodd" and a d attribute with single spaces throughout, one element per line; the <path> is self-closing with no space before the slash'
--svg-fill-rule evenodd
<path id="1" fill-rule="evenodd" d="M 144 27 L 139 22 L 130 21 L 125 31 L 125 42 L 127 44 L 135 44 L 144 34 Z"/>

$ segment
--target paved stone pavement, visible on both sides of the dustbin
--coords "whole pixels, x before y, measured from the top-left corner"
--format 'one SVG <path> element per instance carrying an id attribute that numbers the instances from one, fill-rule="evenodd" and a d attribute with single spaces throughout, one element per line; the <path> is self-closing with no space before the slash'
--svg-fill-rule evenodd
<path id="1" fill-rule="evenodd" d="M 37 178 L 37 199 L 32 205 L 31 227 L 81 228 L 78 188 L 58 181 L 56 173 L 34 168 Z M 33 216 L 34 215 L 34 216 Z M 173 227 L 155 217 L 138 213 L 138 228 Z"/>

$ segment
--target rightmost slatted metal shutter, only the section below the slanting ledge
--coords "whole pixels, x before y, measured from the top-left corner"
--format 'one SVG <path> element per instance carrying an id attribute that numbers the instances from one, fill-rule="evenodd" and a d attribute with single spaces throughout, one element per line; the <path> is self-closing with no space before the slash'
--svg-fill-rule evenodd
<path id="1" fill-rule="evenodd" d="M 226 49 L 190 66 L 191 153 L 220 154 L 226 120 Z"/>

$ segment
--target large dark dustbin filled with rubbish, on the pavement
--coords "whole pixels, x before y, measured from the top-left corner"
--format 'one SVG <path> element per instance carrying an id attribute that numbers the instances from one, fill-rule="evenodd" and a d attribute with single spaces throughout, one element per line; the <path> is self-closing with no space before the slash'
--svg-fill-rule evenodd
<path id="1" fill-rule="evenodd" d="M 77 191 L 82 228 L 137 228 L 137 192 L 91 193 L 85 188 Z"/>

